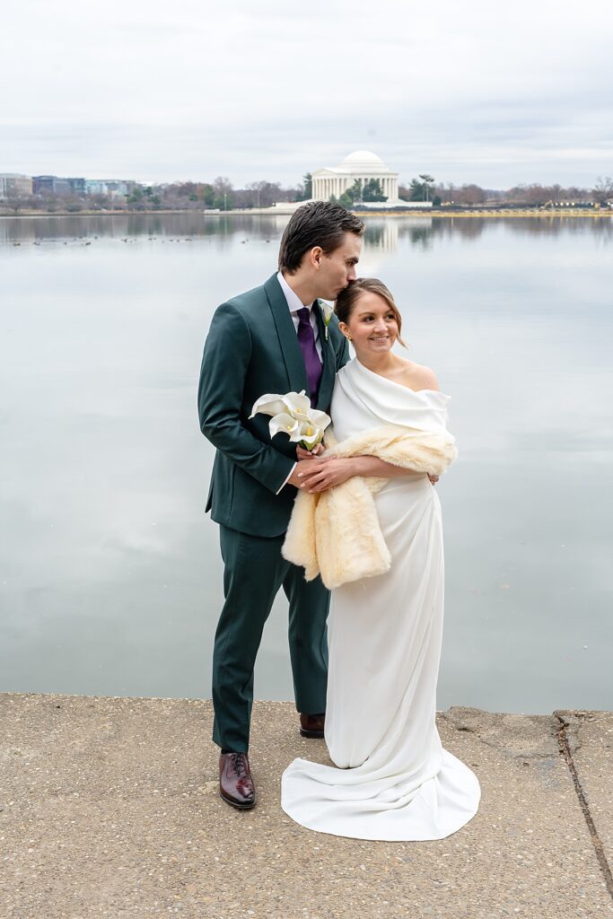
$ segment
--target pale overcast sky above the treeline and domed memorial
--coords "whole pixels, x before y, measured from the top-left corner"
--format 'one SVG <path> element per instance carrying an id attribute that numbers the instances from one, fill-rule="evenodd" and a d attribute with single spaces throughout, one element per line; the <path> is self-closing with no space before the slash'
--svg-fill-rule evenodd
<path id="1" fill-rule="evenodd" d="M 0 172 L 295 185 L 613 175 L 610 0 L 5 0 Z"/>

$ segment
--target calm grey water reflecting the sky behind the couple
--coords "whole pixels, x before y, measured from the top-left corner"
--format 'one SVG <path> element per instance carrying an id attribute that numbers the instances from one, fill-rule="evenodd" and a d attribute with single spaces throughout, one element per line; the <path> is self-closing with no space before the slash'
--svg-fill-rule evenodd
<path id="1" fill-rule="evenodd" d="M 286 221 L 0 220 L 0 690 L 210 695 L 202 344 Z M 452 397 L 438 708 L 612 708 L 613 224 L 373 217 L 360 273 Z M 291 698 L 281 596 L 255 695 Z"/>

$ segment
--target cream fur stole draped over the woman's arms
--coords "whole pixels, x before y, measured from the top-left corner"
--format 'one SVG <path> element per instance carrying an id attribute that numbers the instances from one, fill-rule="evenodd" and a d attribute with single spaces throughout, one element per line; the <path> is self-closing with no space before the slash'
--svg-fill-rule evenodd
<path id="1" fill-rule="evenodd" d="M 332 434 L 325 439 L 326 456 L 376 456 L 431 475 L 441 475 L 458 452 L 447 432 L 393 425 L 373 427 L 340 443 Z M 385 482 L 357 475 L 321 494 L 299 491 L 283 543 L 284 558 L 301 565 L 307 581 L 321 574 L 330 590 L 389 571 L 392 557 L 373 498 Z"/>

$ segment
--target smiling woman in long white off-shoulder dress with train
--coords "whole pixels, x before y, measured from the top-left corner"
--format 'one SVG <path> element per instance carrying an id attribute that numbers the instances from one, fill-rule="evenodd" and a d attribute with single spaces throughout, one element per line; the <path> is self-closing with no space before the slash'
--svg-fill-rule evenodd
<path id="1" fill-rule="evenodd" d="M 335 312 L 356 349 L 336 378 L 336 441 L 381 425 L 444 431 L 449 397 L 435 374 L 392 353 L 402 339 L 390 291 L 358 278 Z M 441 839 L 471 820 L 481 791 L 468 766 L 443 749 L 435 721 L 444 591 L 436 477 L 371 456 L 312 463 L 309 491 L 354 475 L 389 480 L 374 500 L 392 567 L 333 592 L 325 741 L 335 766 L 294 760 L 281 806 L 322 833 Z"/>

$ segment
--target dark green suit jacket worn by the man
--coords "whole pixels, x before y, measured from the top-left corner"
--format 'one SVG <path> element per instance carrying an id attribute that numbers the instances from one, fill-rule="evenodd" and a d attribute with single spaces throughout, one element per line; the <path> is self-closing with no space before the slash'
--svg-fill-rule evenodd
<path id="1" fill-rule="evenodd" d="M 321 309 L 316 315 L 324 357 L 317 408 L 325 412 L 349 349 L 336 317 L 326 341 Z M 273 275 L 218 307 L 204 346 L 198 406 L 200 429 L 217 448 L 206 507 L 217 523 L 254 536 L 285 533 L 296 489 L 277 492 L 296 461 L 296 444 L 283 434 L 271 440 L 269 417 L 249 415 L 267 392 L 301 390 L 309 391 L 301 346 Z"/>

